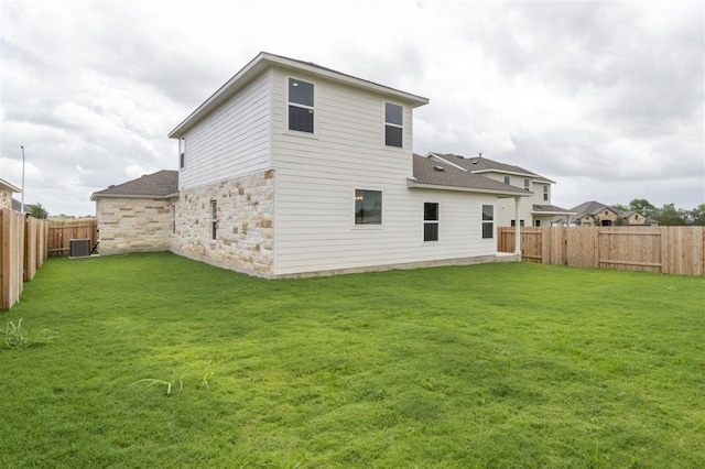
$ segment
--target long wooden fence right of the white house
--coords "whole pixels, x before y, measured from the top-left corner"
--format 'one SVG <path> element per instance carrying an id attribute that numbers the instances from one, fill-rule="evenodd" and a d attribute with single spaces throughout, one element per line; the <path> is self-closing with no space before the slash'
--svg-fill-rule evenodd
<path id="1" fill-rule="evenodd" d="M 554 265 L 705 275 L 705 227 L 521 228 L 521 260 Z M 514 251 L 514 228 L 498 228 Z"/>

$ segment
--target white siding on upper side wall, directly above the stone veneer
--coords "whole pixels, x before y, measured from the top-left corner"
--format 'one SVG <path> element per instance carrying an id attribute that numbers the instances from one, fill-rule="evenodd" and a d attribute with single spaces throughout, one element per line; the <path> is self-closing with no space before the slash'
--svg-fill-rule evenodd
<path id="1" fill-rule="evenodd" d="M 271 143 L 270 74 L 216 109 L 186 132 L 182 189 L 269 168 Z"/>

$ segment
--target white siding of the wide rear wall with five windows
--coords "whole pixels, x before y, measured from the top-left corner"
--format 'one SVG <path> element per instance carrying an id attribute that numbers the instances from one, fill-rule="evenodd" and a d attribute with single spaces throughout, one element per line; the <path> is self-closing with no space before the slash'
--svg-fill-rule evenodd
<path id="1" fill-rule="evenodd" d="M 317 77 L 316 133 L 286 129 L 285 72 L 273 76 L 274 274 L 494 255 L 478 234 L 491 196 L 409 189 L 412 107 L 404 103 L 402 149 L 386 148 L 384 96 Z M 355 189 L 382 192 L 383 223 L 356 226 Z M 443 207 L 443 238 L 423 242 L 423 203 Z"/>

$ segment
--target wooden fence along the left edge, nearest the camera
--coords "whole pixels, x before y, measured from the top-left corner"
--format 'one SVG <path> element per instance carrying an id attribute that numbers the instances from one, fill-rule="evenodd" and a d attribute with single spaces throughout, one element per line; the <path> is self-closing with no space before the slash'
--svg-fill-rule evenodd
<path id="1" fill-rule="evenodd" d="M 0 310 L 10 309 L 44 264 L 48 221 L 0 209 Z"/>

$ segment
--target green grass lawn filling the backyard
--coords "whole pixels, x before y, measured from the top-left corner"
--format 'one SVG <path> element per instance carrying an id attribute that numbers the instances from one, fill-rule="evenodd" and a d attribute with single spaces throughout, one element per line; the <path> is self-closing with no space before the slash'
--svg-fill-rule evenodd
<path id="1" fill-rule="evenodd" d="M 20 318 L 3 468 L 705 467 L 703 277 L 50 259 Z"/>

